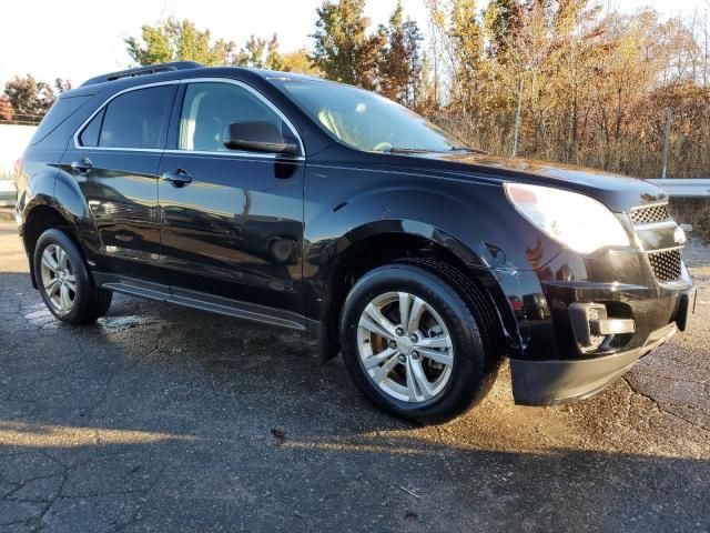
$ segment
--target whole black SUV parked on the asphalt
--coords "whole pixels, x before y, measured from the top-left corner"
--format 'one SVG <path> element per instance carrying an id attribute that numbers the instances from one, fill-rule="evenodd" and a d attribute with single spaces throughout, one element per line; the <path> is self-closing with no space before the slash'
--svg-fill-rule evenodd
<path id="1" fill-rule="evenodd" d="M 62 94 L 18 175 L 32 283 L 291 328 L 435 423 L 504 356 L 517 403 L 587 398 L 686 328 L 686 237 L 652 184 L 471 150 L 353 87 L 170 63 Z"/>

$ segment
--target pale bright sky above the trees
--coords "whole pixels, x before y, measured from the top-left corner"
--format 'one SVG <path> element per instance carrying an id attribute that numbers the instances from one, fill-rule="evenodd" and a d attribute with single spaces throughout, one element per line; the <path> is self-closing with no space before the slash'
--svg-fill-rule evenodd
<path id="1" fill-rule="evenodd" d="M 402 0 L 405 13 L 426 29 L 425 0 Z M 622 11 L 650 6 L 663 16 L 710 8 L 710 0 L 602 0 Z M 173 16 L 187 18 L 212 34 L 242 44 L 251 34 L 278 34 L 281 51 L 310 47 L 315 9 L 322 0 L 32 0 L 7 2 L 0 29 L 0 87 L 13 76 L 31 73 L 53 81 L 84 80 L 130 66 L 123 39 L 141 26 Z M 373 24 L 385 22 L 397 0 L 368 0 Z M 480 2 L 481 6 L 485 0 Z"/>

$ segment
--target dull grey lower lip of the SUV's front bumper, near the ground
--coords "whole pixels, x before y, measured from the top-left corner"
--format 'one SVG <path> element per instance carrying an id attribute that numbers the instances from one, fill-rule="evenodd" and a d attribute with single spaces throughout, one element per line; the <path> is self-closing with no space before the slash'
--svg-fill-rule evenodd
<path id="1" fill-rule="evenodd" d="M 684 330 L 694 310 L 696 290 L 680 298 L 676 321 L 651 332 L 636 349 L 586 360 L 510 360 L 513 395 L 519 405 L 555 405 L 589 398 L 625 374 L 642 356 Z"/>

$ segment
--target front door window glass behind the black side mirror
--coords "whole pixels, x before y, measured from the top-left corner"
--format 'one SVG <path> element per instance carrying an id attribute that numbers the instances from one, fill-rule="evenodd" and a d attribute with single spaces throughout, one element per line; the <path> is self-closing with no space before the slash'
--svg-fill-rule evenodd
<path id="1" fill-rule="evenodd" d="M 283 119 L 264 101 L 233 83 L 191 83 L 180 118 L 180 150 L 230 152 L 224 143 L 225 129 L 236 122 L 270 122 L 284 141 L 296 142 Z"/>

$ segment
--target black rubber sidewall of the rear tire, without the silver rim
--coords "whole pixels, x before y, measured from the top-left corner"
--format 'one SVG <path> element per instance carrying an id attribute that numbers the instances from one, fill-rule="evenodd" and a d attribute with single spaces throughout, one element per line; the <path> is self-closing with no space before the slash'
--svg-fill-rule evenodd
<path id="1" fill-rule="evenodd" d="M 42 253 L 50 244 L 57 244 L 61 247 L 68 254 L 69 261 L 71 262 L 74 278 L 77 279 L 77 293 L 74 296 L 74 304 L 68 313 L 60 313 L 54 309 L 47 292 L 44 291 L 44 285 L 42 282 Z M 83 320 L 83 314 L 87 309 L 92 305 L 92 288 L 93 281 L 89 275 L 89 271 L 87 265 L 84 264 L 84 259 L 77 244 L 72 241 L 72 239 L 67 235 L 61 230 L 50 229 L 42 233 L 37 241 L 37 245 L 34 247 L 34 279 L 37 281 L 37 285 L 39 286 L 40 295 L 42 301 L 49 309 L 49 311 L 59 320 L 69 323 L 79 323 Z M 95 291 L 94 291 L 95 292 Z"/>

